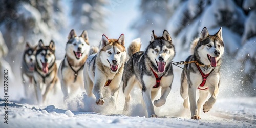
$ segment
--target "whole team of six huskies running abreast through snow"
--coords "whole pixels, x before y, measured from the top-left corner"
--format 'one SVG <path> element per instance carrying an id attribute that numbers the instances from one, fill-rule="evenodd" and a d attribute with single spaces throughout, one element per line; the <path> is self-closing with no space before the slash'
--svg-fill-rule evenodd
<path id="1" fill-rule="evenodd" d="M 25 94 L 28 96 L 28 87 L 34 86 L 38 103 L 44 103 L 59 80 L 64 101 L 85 89 L 88 96 L 96 97 L 97 105 L 104 105 L 103 90 L 108 89 L 111 95 L 109 103 L 115 105 L 122 86 L 125 112 L 130 108 L 130 92 L 136 85 L 142 91 L 148 117 L 157 117 L 154 105 L 164 105 L 172 88 L 175 46 L 166 30 L 162 36 L 157 36 L 153 30 L 145 51 L 140 51 L 140 47 L 138 38 L 132 41 L 126 52 L 123 34 L 118 39 L 110 39 L 103 34 L 99 47 L 90 46 L 87 31 L 78 36 L 71 30 L 65 57 L 57 67 L 53 41 L 46 46 L 39 40 L 36 47 L 27 43 L 22 62 Z M 204 27 L 200 36 L 191 43 L 191 55 L 183 63 L 180 88 L 183 106 L 190 108 L 191 119 L 200 119 L 201 109 L 208 112 L 216 102 L 223 53 L 222 28 L 210 35 Z M 154 100 L 159 89 L 161 97 Z"/>

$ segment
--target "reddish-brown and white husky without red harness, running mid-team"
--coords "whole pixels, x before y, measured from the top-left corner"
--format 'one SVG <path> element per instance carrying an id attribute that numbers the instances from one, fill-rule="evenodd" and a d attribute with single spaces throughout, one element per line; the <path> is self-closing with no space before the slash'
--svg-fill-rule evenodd
<path id="1" fill-rule="evenodd" d="M 109 39 L 102 35 L 100 50 L 91 55 L 84 65 L 84 88 L 87 95 L 96 97 L 96 104 L 103 105 L 102 90 L 107 87 L 111 92 L 110 103 L 115 104 L 123 67 L 126 61 L 124 35 L 118 39 Z"/>

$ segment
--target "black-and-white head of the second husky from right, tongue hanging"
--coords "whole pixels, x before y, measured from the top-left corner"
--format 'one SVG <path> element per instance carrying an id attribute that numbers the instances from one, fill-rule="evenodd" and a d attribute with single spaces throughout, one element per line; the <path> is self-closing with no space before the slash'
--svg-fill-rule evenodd
<path id="1" fill-rule="evenodd" d="M 157 37 L 154 30 L 152 31 L 150 45 L 147 47 L 146 54 L 152 64 L 157 67 L 158 72 L 162 73 L 165 71 L 166 64 L 168 65 L 172 62 L 175 56 L 172 38 L 167 30 L 163 31 L 162 37 Z"/>

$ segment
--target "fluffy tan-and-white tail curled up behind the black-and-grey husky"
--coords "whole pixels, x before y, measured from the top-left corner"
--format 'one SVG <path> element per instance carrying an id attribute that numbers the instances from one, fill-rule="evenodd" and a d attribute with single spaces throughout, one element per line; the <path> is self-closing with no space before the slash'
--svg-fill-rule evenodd
<path id="1" fill-rule="evenodd" d="M 140 38 L 134 39 L 128 47 L 128 55 L 131 57 L 134 53 L 139 52 L 141 47 Z"/>

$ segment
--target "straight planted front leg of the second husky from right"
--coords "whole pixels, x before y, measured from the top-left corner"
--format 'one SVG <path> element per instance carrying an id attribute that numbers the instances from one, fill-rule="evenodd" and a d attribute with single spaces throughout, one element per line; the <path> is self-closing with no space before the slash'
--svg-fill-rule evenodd
<path id="1" fill-rule="evenodd" d="M 145 91 L 142 90 L 142 96 L 146 104 L 148 117 L 157 117 L 151 101 L 151 89 L 146 89 Z"/>

